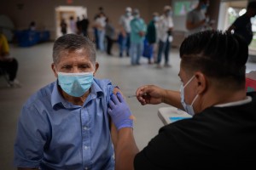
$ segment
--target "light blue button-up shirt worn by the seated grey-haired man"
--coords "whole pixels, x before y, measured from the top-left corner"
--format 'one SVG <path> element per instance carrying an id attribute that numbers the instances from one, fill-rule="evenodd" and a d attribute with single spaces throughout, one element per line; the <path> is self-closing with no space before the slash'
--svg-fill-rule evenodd
<path id="1" fill-rule="evenodd" d="M 20 114 L 15 166 L 55 170 L 112 170 L 107 113 L 113 85 L 94 79 L 83 106 L 61 97 L 57 82 L 33 94 Z"/>

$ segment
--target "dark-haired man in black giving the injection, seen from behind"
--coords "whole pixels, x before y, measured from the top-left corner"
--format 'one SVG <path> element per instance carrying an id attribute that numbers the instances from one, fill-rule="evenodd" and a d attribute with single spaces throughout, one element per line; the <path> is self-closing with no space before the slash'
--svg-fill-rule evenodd
<path id="1" fill-rule="evenodd" d="M 115 169 L 255 169 L 256 92 L 245 90 L 247 43 L 229 32 L 201 31 L 186 37 L 179 52 L 180 92 L 144 85 L 136 95 L 142 105 L 165 103 L 192 117 L 161 127 L 139 151 L 131 110 L 113 94 Z"/>

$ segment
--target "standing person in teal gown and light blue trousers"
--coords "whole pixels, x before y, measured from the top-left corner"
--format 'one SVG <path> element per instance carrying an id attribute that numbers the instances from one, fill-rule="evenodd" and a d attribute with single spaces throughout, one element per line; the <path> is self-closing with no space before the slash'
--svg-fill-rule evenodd
<path id="1" fill-rule="evenodd" d="M 140 58 L 143 54 L 143 41 L 147 26 L 144 20 L 140 17 L 140 12 L 137 8 L 132 11 L 133 19 L 131 20 L 131 65 L 140 65 Z"/>

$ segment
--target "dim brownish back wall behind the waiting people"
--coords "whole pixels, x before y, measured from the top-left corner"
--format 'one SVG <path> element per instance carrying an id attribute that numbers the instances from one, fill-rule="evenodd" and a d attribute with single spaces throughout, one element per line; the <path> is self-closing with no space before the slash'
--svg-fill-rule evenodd
<path id="1" fill-rule="evenodd" d="M 153 12 L 162 13 L 165 5 L 170 5 L 170 0 L 75 0 L 67 4 L 66 0 L 8 0 L 0 5 L 0 14 L 5 14 L 13 20 L 15 29 L 22 30 L 29 26 L 32 20 L 37 23 L 38 29 L 50 31 L 51 39 L 56 37 L 55 8 L 59 6 L 80 6 L 87 8 L 88 18 L 92 22 L 99 7 L 103 7 L 105 13 L 113 21 L 113 26 L 119 29 L 119 16 L 125 13 L 125 8 L 138 8 L 143 19 L 148 23 Z"/>

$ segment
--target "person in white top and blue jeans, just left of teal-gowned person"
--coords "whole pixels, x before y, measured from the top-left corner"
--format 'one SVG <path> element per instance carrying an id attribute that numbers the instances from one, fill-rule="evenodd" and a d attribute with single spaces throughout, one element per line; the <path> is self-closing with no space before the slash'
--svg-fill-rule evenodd
<path id="1" fill-rule="evenodd" d="M 125 8 L 125 14 L 122 14 L 119 19 L 119 57 L 123 57 L 124 51 L 126 51 L 126 56 L 129 56 L 131 41 L 130 41 L 130 33 L 131 33 L 131 26 L 130 22 L 132 20 L 131 15 L 131 8 Z"/>

